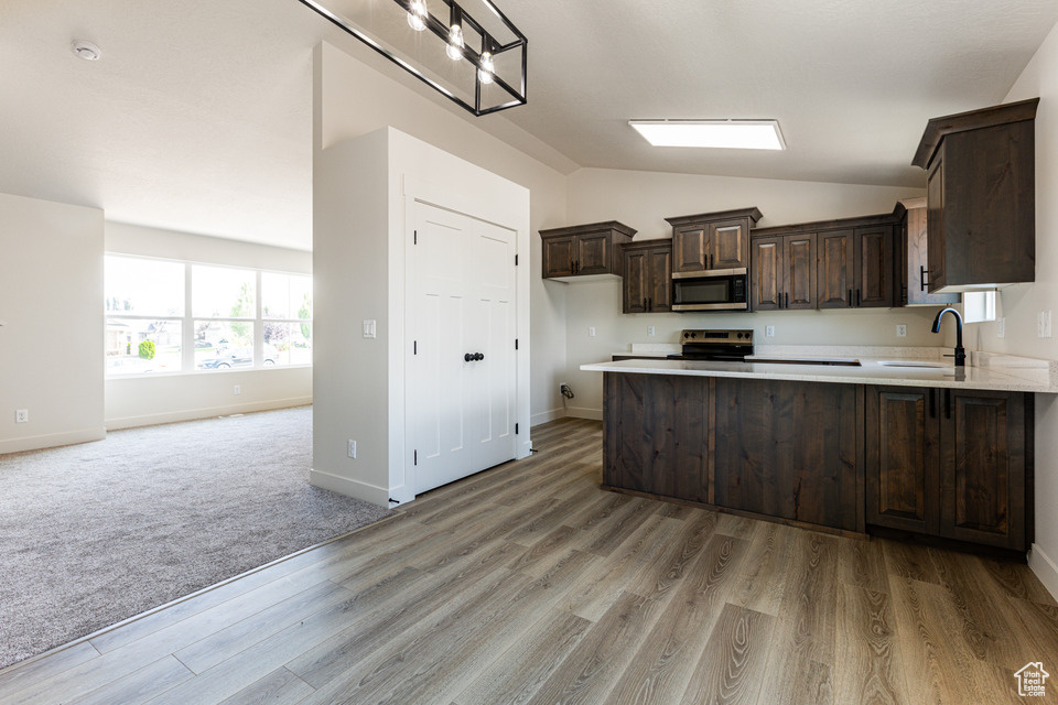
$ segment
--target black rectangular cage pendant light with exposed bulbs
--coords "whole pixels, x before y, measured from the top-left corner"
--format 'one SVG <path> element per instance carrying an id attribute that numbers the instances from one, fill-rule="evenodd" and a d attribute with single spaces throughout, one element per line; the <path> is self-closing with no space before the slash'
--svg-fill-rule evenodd
<path id="1" fill-rule="evenodd" d="M 475 116 L 526 104 L 528 41 L 492 0 L 299 2 Z"/>

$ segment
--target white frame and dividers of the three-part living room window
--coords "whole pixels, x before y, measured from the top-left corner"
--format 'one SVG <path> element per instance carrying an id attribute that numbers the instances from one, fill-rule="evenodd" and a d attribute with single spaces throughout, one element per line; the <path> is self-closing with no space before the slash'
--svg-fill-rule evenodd
<path id="1" fill-rule="evenodd" d="M 299 365 L 264 365 L 264 324 L 266 323 L 307 323 L 313 326 L 313 318 L 264 318 L 263 316 L 263 296 L 261 295 L 261 279 L 264 272 L 274 273 L 274 274 L 285 274 L 288 276 L 307 276 L 310 283 L 310 291 L 312 291 L 312 274 L 306 274 L 304 272 L 291 272 L 283 270 L 274 269 L 260 269 L 256 267 L 239 267 L 233 264 L 222 264 L 217 262 L 196 262 L 191 260 L 177 260 L 165 257 L 147 257 L 142 254 L 127 254 L 125 252 L 104 252 L 105 257 L 121 257 L 126 259 L 136 259 L 136 260 L 153 260 L 161 262 L 172 262 L 175 264 L 181 264 L 184 268 L 184 315 L 181 316 L 150 316 L 150 315 L 110 315 L 106 311 L 106 305 L 104 305 L 104 330 L 106 330 L 107 324 L 112 318 L 130 318 L 139 321 L 174 321 L 180 322 L 180 351 L 181 351 L 181 369 L 180 371 L 172 372 L 128 372 L 128 373 L 114 373 L 109 368 L 104 370 L 104 376 L 107 380 L 111 379 L 150 379 L 156 377 L 174 377 L 180 375 L 225 375 L 229 372 L 250 372 L 259 370 L 278 370 L 278 369 L 291 369 L 291 368 L 311 368 L 313 364 L 310 361 L 307 364 Z M 216 267 L 220 269 L 237 269 L 248 272 L 253 272 L 253 317 L 245 318 L 235 318 L 235 317 L 195 317 L 193 310 L 193 292 L 192 292 L 192 281 L 194 279 L 193 271 L 195 267 Z M 104 292 L 106 293 L 106 292 Z M 104 300 L 105 301 L 105 300 Z M 253 364 L 250 367 L 231 367 L 231 368 L 217 368 L 217 369 L 198 369 L 195 365 L 195 322 L 197 321 L 209 321 L 216 323 L 249 323 L 253 326 Z M 104 336 L 104 345 L 106 345 L 106 336 Z M 104 354 L 106 357 L 106 352 Z"/>

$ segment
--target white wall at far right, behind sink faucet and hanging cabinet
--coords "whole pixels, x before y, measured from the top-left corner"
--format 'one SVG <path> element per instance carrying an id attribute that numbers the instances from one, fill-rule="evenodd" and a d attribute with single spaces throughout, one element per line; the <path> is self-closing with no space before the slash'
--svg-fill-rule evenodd
<path id="1" fill-rule="evenodd" d="M 1058 28 L 1015 82 L 1004 102 L 1039 97 L 1036 113 L 1036 281 L 1004 289 L 997 324 L 978 326 L 982 349 L 1058 359 L 1058 338 L 1036 337 L 1036 314 L 1058 311 Z M 1036 395 L 1036 544 L 1029 565 L 1058 597 L 1058 399 Z"/>

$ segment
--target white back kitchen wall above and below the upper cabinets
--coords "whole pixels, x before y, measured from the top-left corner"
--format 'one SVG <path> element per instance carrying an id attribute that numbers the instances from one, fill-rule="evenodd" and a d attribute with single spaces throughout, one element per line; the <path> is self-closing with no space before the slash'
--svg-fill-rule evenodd
<path id="1" fill-rule="evenodd" d="M 925 175 L 922 177 L 925 182 Z M 856 186 L 816 182 L 732 178 L 600 169 L 570 176 L 569 224 L 619 220 L 637 229 L 635 239 L 671 237 L 666 217 L 758 207 L 757 227 L 771 227 L 892 213 L 900 198 L 921 189 Z M 559 284 L 563 285 L 563 284 Z M 566 360 L 564 381 L 576 398 L 573 415 L 601 417 L 602 376 L 582 372 L 584 362 L 627 352 L 631 343 L 678 343 L 682 328 L 753 328 L 757 345 L 953 345 L 953 338 L 929 333 L 937 310 L 892 308 L 855 311 L 782 311 L 711 314 L 622 314 L 620 282 L 565 284 Z M 896 337 L 896 325 L 907 324 L 907 337 Z M 775 337 L 764 328 L 775 326 Z M 589 327 L 595 327 L 595 337 Z M 656 335 L 647 335 L 655 326 Z"/>

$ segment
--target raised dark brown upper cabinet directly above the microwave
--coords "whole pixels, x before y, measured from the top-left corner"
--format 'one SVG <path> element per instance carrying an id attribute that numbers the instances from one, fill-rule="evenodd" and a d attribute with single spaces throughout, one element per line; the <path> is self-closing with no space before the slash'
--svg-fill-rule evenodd
<path id="1" fill-rule="evenodd" d="M 672 276 L 749 267 L 749 229 L 760 219 L 756 208 L 666 218 L 672 226 Z"/>

